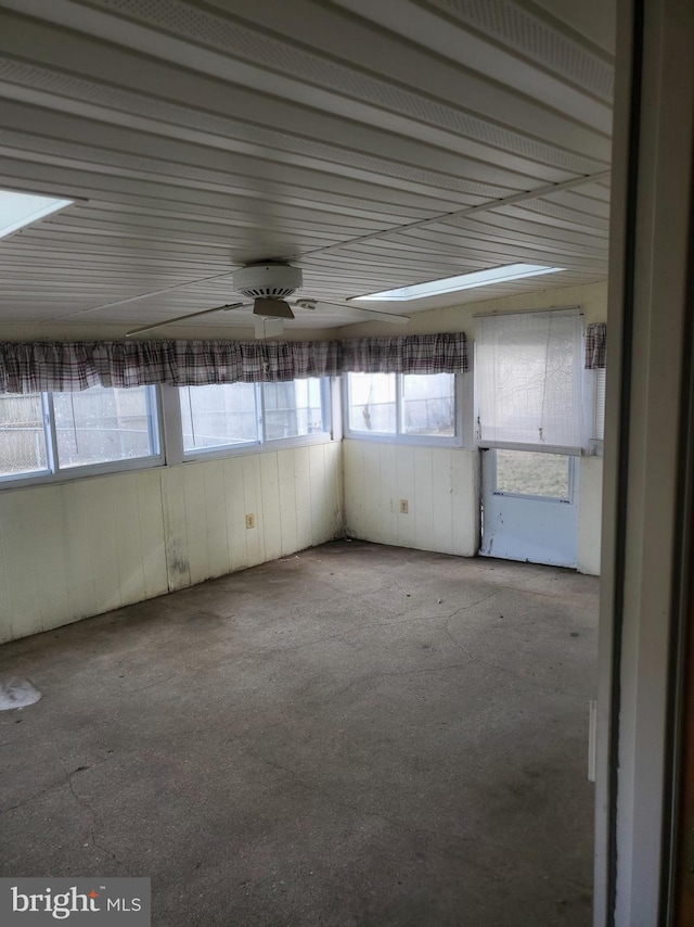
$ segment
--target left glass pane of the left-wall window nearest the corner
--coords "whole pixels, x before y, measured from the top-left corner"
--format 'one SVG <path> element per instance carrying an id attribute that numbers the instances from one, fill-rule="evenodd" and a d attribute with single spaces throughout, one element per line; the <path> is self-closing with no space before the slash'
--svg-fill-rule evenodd
<path id="1" fill-rule="evenodd" d="M 184 450 L 258 441 L 253 383 L 184 386 L 179 390 L 179 397 Z"/>

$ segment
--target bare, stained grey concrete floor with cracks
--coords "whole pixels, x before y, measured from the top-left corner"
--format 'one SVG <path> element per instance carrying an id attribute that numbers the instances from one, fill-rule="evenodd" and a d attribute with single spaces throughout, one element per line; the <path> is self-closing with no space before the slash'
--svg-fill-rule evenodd
<path id="1" fill-rule="evenodd" d="M 155 927 L 590 923 L 597 581 L 335 543 L 0 648 L 0 874 Z"/>

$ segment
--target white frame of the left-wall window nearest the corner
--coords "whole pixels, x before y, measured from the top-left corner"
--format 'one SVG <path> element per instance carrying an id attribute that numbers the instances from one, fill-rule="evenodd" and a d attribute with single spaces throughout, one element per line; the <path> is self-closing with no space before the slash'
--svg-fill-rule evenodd
<path id="1" fill-rule="evenodd" d="M 247 454 L 258 454 L 264 450 L 272 450 L 272 449 L 284 449 L 291 447 L 306 447 L 312 444 L 327 444 L 331 441 L 335 441 L 335 416 L 333 414 L 334 403 L 332 397 L 332 391 L 334 389 L 333 381 L 336 378 L 332 377 L 313 377 L 313 378 L 297 378 L 297 379 L 314 379 L 320 380 L 320 389 L 321 389 L 321 412 L 322 412 L 322 421 L 323 421 L 323 430 L 318 432 L 311 432 L 310 434 L 297 434 L 291 437 L 267 437 L 266 436 L 266 408 L 265 408 L 265 393 L 262 388 L 266 385 L 264 382 L 253 383 L 255 399 L 256 399 L 256 423 L 257 423 L 257 435 L 258 439 L 256 441 L 244 441 L 239 442 L 236 444 L 222 444 L 217 445 L 215 447 L 193 447 L 190 450 L 187 450 L 183 446 L 183 430 L 181 423 L 181 411 L 180 411 L 180 389 L 195 389 L 194 386 L 171 386 L 169 388 L 171 393 L 174 393 L 174 398 L 176 399 L 177 409 L 168 408 L 168 406 L 172 406 L 174 403 L 170 402 L 167 405 L 167 423 L 168 429 L 165 426 L 165 432 L 178 431 L 180 435 L 180 447 L 171 447 L 169 448 L 167 445 L 167 464 L 174 465 L 178 462 L 194 462 L 201 460 L 215 460 L 223 457 L 239 457 Z M 280 382 L 293 383 L 295 380 L 283 380 Z M 215 385 L 215 384 L 210 384 Z M 220 384 L 221 385 L 221 384 Z M 233 385 L 233 384 L 230 384 Z M 267 385 L 272 385 L 272 383 L 268 383 Z M 178 419 L 178 421 L 176 421 Z M 168 452 L 171 452 L 169 454 Z"/>

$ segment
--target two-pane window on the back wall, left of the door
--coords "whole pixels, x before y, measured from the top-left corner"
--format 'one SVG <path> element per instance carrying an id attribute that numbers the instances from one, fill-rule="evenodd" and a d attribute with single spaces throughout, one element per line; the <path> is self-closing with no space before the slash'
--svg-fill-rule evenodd
<path id="1" fill-rule="evenodd" d="M 348 428 L 367 434 L 453 440 L 453 373 L 349 373 Z"/>

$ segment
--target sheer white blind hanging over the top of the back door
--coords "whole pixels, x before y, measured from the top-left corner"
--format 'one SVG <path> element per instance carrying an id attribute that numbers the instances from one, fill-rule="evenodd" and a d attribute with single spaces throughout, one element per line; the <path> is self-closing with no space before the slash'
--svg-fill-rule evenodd
<path id="1" fill-rule="evenodd" d="M 477 317 L 475 384 L 481 444 L 580 450 L 581 319 L 578 309 Z"/>

